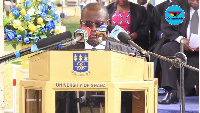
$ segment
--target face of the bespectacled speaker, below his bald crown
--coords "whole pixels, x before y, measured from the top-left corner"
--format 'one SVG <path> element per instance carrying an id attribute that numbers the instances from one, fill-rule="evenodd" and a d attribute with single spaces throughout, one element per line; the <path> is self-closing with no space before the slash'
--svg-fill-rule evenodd
<path id="1" fill-rule="evenodd" d="M 103 10 L 85 10 L 83 15 L 84 17 L 80 21 L 81 27 L 89 27 L 91 29 L 91 36 L 88 37 L 87 43 L 95 47 L 100 43 L 96 33 L 97 29 L 101 25 L 108 24 L 106 14 Z"/>

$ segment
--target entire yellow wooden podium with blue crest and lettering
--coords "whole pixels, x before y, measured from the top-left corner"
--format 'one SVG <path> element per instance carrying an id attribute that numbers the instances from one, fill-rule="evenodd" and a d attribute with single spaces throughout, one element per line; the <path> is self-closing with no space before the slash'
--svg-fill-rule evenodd
<path id="1" fill-rule="evenodd" d="M 144 112 L 157 113 L 153 67 L 145 58 L 113 51 L 48 51 L 32 56 L 29 79 L 20 81 L 20 113 L 55 113 L 56 91 L 103 91 L 105 107 L 99 113 L 121 113 L 121 92 L 142 91 Z"/>

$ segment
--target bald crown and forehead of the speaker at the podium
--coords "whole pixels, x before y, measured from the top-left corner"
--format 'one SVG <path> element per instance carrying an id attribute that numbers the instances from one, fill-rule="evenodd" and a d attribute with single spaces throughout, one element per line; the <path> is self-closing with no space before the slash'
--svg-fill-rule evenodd
<path id="1" fill-rule="evenodd" d="M 108 20 L 108 11 L 107 9 L 99 4 L 99 3 L 89 3 L 87 4 L 83 11 L 81 12 L 81 19 L 84 19 L 86 16 L 88 16 L 88 12 L 90 13 L 100 13 L 100 16 L 102 18 L 105 18 L 106 20 Z"/>

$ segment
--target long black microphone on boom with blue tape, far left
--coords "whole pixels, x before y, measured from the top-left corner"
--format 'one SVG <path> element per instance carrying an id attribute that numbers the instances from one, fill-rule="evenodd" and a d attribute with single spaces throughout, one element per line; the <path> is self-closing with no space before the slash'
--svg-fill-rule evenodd
<path id="1" fill-rule="evenodd" d="M 0 63 L 5 62 L 7 60 L 14 59 L 14 58 L 18 58 L 20 56 L 29 54 L 31 52 L 37 52 L 41 49 L 47 48 L 47 46 L 49 46 L 49 45 L 56 44 L 56 43 L 58 43 L 62 40 L 65 40 L 66 38 L 71 38 L 71 37 L 72 37 L 71 32 L 66 31 L 64 33 L 60 33 L 60 34 L 57 34 L 57 35 L 50 36 L 48 38 L 41 39 L 38 42 L 36 42 L 34 45 L 32 45 L 31 47 L 28 47 L 28 48 L 25 48 L 25 49 L 22 49 L 22 50 L 19 50 L 19 51 L 15 51 L 13 53 L 10 53 L 10 54 L 4 55 L 4 56 L 1 56 L 0 57 Z"/>

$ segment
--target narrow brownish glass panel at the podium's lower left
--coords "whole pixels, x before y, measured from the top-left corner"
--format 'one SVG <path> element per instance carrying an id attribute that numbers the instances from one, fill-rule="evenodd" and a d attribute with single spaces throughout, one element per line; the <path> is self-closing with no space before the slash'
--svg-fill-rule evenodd
<path id="1" fill-rule="evenodd" d="M 42 113 L 42 90 L 25 89 L 25 113 Z"/>

